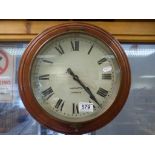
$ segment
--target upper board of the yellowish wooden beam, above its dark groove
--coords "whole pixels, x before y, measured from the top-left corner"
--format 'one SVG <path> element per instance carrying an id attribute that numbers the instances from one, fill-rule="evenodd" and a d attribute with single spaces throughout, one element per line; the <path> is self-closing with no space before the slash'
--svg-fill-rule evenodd
<path id="1" fill-rule="evenodd" d="M 62 23 L 73 21 L 27 21 L 27 20 L 0 20 L 1 35 L 36 35 L 46 28 Z M 101 27 L 114 35 L 155 35 L 155 20 L 154 21 L 77 21 L 88 24 L 93 24 Z"/>

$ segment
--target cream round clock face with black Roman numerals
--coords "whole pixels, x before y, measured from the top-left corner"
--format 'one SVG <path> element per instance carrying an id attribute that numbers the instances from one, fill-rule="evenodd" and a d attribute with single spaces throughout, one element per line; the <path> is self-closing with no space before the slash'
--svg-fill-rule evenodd
<path id="1" fill-rule="evenodd" d="M 71 32 L 39 49 L 30 79 L 34 97 L 49 115 L 65 122 L 85 122 L 113 104 L 121 71 L 106 44 L 91 35 Z"/>

